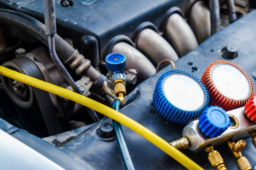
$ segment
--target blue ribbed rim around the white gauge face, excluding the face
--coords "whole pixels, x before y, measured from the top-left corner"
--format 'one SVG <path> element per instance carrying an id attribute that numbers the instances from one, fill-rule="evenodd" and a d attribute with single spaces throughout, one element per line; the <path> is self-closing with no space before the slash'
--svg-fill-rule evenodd
<path id="1" fill-rule="evenodd" d="M 170 101 L 167 99 L 167 97 L 164 94 L 163 83 L 167 77 L 173 74 L 186 75 L 187 77 L 192 78 L 192 81 L 194 80 L 200 85 L 200 87 L 202 88 L 203 96 L 204 96 L 204 101 L 202 106 L 194 110 L 182 110 L 174 106 L 172 103 L 170 103 Z M 174 99 L 175 97 L 176 96 L 174 96 Z M 195 98 L 194 100 L 197 100 L 197 99 Z M 158 111 L 158 113 L 166 121 L 169 121 L 174 124 L 180 124 L 180 125 L 184 125 L 189 120 L 199 117 L 202 114 L 202 112 L 205 110 L 205 108 L 208 107 L 209 101 L 210 101 L 210 97 L 205 85 L 203 85 L 201 81 L 191 73 L 188 73 L 182 70 L 170 70 L 162 74 L 162 76 L 158 79 L 156 83 L 155 90 L 153 93 L 153 104 L 156 110 Z"/>

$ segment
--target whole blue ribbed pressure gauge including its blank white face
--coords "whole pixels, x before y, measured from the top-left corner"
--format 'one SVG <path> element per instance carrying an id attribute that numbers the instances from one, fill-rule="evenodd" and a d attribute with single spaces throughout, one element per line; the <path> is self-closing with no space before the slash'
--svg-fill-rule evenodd
<path id="1" fill-rule="evenodd" d="M 209 93 L 199 79 L 182 70 L 170 70 L 158 79 L 153 104 L 168 122 L 186 124 L 209 105 Z"/>

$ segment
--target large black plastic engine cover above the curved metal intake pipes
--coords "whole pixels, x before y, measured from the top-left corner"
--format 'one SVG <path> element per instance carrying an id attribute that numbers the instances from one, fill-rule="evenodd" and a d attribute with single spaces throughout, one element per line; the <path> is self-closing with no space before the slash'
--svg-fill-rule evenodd
<path id="1" fill-rule="evenodd" d="M 107 44 L 113 37 L 126 35 L 131 39 L 136 27 L 146 21 L 158 27 L 169 8 L 186 6 L 188 2 L 188 0 L 69 1 L 72 1 L 73 5 L 63 7 L 60 5 L 61 0 L 55 0 L 57 33 L 72 39 L 74 47 L 78 49 L 83 48 L 81 40 L 85 35 L 96 37 L 100 59 L 106 55 Z M 2 0 L 0 6 L 21 11 L 44 23 L 43 0 Z M 88 56 L 88 53 L 84 55 L 92 60 L 92 56 Z"/>

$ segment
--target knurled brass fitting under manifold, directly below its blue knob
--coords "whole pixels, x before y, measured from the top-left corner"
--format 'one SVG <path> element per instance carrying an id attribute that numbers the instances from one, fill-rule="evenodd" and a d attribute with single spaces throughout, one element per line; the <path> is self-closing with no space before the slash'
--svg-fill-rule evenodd
<path id="1" fill-rule="evenodd" d="M 221 155 L 218 151 L 214 150 L 212 145 L 206 147 L 205 152 L 208 153 L 208 160 L 210 161 L 211 166 L 218 170 L 227 170 Z"/>

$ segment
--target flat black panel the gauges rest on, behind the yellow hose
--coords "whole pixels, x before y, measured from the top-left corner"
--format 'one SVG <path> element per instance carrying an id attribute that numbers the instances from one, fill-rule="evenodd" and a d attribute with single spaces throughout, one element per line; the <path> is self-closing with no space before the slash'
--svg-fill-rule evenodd
<path id="1" fill-rule="evenodd" d="M 191 72 L 192 67 L 197 67 L 199 70 L 195 71 L 194 75 L 201 78 L 210 63 L 216 60 L 224 60 L 221 56 L 221 49 L 231 45 L 237 48 L 238 57 L 230 61 L 244 68 L 252 78 L 253 84 L 256 85 L 255 18 L 256 11 L 253 11 L 214 34 L 194 51 L 175 62 L 176 68 Z M 189 65 L 189 62 L 194 63 L 194 65 Z M 168 66 L 138 85 L 128 95 L 126 104 L 121 110 L 123 114 L 141 123 L 169 142 L 181 137 L 183 126 L 166 123 L 155 111 L 152 104 L 152 95 L 158 78 L 162 73 L 171 69 L 172 67 Z M 108 119 L 105 122 L 111 122 L 111 120 Z M 93 165 L 95 169 L 125 169 L 116 140 L 103 142 L 97 137 L 96 130 L 99 126 L 100 124 L 88 127 L 82 134 L 70 142 L 66 142 L 67 144 L 64 143 L 65 145 L 61 148 L 82 158 Z M 182 165 L 132 130 L 123 127 L 123 132 L 136 169 L 184 169 Z M 66 135 L 68 136 L 68 134 Z M 46 140 L 53 141 L 54 138 L 59 137 L 50 137 Z M 251 142 L 252 139 L 246 137 L 244 140 L 246 146 L 242 150 L 243 156 L 247 157 L 252 166 L 255 166 L 256 149 Z M 222 155 L 227 169 L 237 169 L 235 158 L 226 144 L 216 146 L 215 149 Z M 204 151 L 193 153 L 190 150 L 184 150 L 182 152 L 203 168 L 214 169 L 207 159 L 207 153 Z"/>

